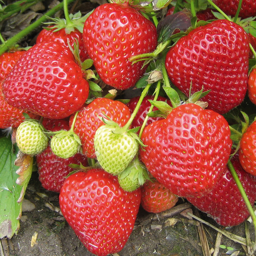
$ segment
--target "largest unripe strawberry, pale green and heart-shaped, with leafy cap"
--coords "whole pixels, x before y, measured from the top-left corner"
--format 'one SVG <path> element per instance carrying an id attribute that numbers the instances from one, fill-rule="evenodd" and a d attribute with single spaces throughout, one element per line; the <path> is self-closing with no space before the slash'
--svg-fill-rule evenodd
<path id="1" fill-rule="evenodd" d="M 100 126 L 94 136 L 94 148 L 101 167 L 108 173 L 121 173 L 138 151 L 135 134 L 116 125 Z"/>

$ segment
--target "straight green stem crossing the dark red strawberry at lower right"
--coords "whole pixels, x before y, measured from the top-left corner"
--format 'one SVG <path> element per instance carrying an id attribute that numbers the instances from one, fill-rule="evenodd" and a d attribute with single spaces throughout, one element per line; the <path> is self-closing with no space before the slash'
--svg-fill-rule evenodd
<path id="1" fill-rule="evenodd" d="M 233 176 L 233 178 L 234 178 L 234 180 L 235 180 L 235 182 L 236 182 L 236 184 L 238 186 L 238 189 L 239 189 L 239 191 L 241 193 L 241 196 L 242 196 L 242 198 L 243 198 L 243 200 L 244 200 L 244 202 L 246 204 L 246 207 L 247 207 L 247 209 L 248 209 L 248 211 L 250 213 L 250 216 L 251 216 L 252 222 L 253 222 L 253 226 L 254 226 L 254 230 L 255 230 L 255 233 L 256 233 L 256 215 L 255 215 L 254 210 L 253 210 L 253 208 L 251 206 L 251 203 L 250 203 L 250 201 L 249 201 L 249 199 L 248 199 L 248 197 L 246 195 L 246 192 L 244 191 L 244 188 L 243 188 L 243 186 L 242 186 L 242 184 L 240 182 L 240 179 L 238 178 L 238 175 L 237 175 L 237 173 L 236 173 L 236 171 L 234 169 L 234 166 L 232 165 L 230 160 L 228 161 L 228 168 L 229 168 L 229 170 L 230 170 L 230 172 L 231 172 L 231 174 L 232 174 L 232 176 Z M 253 248 L 254 250 L 253 251 L 255 251 L 255 245 L 256 245 L 256 243 L 254 244 L 254 248 Z"/>

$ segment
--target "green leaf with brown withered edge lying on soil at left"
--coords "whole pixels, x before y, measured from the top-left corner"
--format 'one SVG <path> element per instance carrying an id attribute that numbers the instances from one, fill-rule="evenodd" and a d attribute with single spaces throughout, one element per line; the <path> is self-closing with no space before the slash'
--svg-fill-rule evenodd
<path id="1" fill-rule="evenodd" d="M 0 238 L 11 238 L 17 234 L 19 229 L 21 201 L 31 176 L 33 164 L 28 167 L 30 175 L 27 175 L 22 186 L 18 185 L 16 180 L 19 175 L 16 171 L 20 168 L 14 165 L 18 148 L 15 148 L 14 152 L 11 140 L 6 137 L 0 138 L 0 145 Z"/>

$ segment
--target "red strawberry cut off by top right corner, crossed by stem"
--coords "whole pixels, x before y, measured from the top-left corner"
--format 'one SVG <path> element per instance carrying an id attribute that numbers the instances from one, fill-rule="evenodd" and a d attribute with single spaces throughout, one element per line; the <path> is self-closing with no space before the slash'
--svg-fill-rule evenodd
<path id="1" fill-rule="evenodd" d="M 213 2 L 227 15 L 235 16 L 239 0 L 213 0 Z M 239 17 L 248 18 L 256 16 L 255 0 L 243 0 Z"/>

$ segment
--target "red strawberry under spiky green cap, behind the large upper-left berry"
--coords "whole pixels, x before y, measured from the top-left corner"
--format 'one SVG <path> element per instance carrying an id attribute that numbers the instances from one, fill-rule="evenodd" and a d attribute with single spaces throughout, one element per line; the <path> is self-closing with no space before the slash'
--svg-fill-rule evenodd
<path id="1" fill-rule="evenodd" d="M 49 28 L 51 28 L 50 26 Z M 53 29 L 42 29 L 40 33 L 37 36 L 36 44 L 44 41 L 54 41 L 54 42 L 60 42 L 63 45 L 69 47 L 70 46 L 74 49 L 74 42 L 77 42 L 79 45 L 79 56 L 81 61 L 84 61 L 86 59 L 89 59 L 89 56 L 87 54 L 86 48 L 84 46 L 83 42 L 83 35 L 80 31 L 77 29 L 71 31 L 69 34 L 66 33 L 65 28 L 62 28 L 58 31 L 54 31 Z"/>

